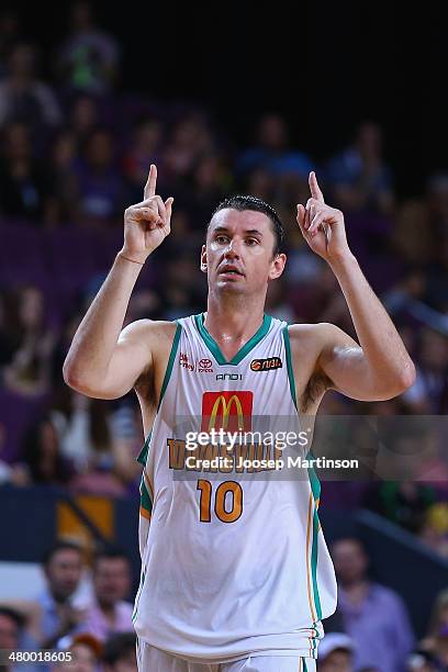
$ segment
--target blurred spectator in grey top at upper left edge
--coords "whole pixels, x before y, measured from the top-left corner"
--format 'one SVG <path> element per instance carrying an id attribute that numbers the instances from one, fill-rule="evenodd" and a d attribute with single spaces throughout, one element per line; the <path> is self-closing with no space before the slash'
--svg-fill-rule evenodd
<path id="1" fill-rule="evenodd" d="M 36 79 L 37 54 L 31 44 L 16 44 L 8 76 L 0 81 L 0 127 L 21 122 L 36 131 L 60 124 L 61 113 L 51 87 Z"/>

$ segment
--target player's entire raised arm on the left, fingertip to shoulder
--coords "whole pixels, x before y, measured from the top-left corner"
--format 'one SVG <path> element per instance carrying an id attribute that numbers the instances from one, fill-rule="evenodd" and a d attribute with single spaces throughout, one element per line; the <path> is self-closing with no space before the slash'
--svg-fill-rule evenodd
<path id="1" fill-rule="evenodd" d="M 145 200 L 124 216 L 124 245 L 82 318 L 64 362 L 64 380 L 96 399 L 126 394 L 153 366 L 153 324 L 138 320 L 123 329 L 132 291 L 143 265 L 170 231 L 172 199 L 155 195 L 157 170 L 150 167 Z"/>

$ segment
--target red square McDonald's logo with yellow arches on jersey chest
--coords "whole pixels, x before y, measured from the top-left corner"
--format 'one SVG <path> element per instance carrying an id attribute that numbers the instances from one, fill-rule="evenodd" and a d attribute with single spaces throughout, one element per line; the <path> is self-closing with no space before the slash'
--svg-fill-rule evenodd
<path id="1" fill-rule="evenodd" d="M 254 392 L 204 392 L 201 432 L 250 432 Z"/>

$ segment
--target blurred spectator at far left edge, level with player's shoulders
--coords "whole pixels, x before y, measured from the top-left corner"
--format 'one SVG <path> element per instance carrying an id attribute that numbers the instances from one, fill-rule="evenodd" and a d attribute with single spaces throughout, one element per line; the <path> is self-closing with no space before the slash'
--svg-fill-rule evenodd
<path id="1" fill-rule="evenodd" d="M 33 285 L 9 295 L 8 324 L 13 355 L 3 368 L 5 388 L 24 396 L 49 392 L 55 334 L 48 326 L 43 292 Z"/>

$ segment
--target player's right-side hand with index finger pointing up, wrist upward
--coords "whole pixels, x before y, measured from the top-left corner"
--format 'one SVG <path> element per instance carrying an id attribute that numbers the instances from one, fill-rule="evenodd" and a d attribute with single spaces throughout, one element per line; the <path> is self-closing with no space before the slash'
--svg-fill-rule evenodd
<path id="1" fill-rule="evenodd" d="M 310 172 L 309 183 L 312 198 L 305 208 L 301 203 L 298 205 L 298 223 L 303 237 L 326 261 L 350 255 L 343 213 L 325 203 L 315 172 Z"/>

